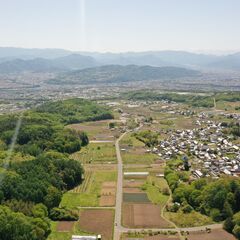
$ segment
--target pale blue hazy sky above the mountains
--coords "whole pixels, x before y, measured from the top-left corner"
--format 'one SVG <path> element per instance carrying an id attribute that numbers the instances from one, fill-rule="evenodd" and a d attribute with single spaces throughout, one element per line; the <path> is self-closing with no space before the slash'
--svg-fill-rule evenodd
<path id="1" fill-rule="evenodd" d="M 0 46 L 240 50 L 239 0 L 0 0 Z"/>

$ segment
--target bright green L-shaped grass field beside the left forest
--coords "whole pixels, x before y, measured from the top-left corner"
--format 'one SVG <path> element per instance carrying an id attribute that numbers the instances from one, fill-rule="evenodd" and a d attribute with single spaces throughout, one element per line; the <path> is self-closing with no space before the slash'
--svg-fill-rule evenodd
<path id="1" fill-rule="evenodd" d="M 77 207 L 97 207 L 101 187 L 104 182 L 116 181 L 116 171 L 96 171 L 93 173 L 91 180 L 83 193 L 69 191 L 64 193 L 60 206 L 76 209 Z"/>

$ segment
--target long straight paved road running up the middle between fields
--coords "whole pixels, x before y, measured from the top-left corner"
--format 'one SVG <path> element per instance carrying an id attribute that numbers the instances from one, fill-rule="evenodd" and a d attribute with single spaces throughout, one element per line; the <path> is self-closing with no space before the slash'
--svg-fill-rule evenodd
<path id="1" fill-rule="evenodd" d="M 117 180 L 117 193 L 116 193 L 116 207 L 115 207 L 115 222 L 114 222 L 114 240 L 119 240 L 121 237 L 121 232 L 123 228 L 121 227 L 121 215 L 122 215 L 122 188 L 123 188 L 123 164 L 122 157 L 119 147 L 120 140 L 127 134 L 125 132 L 117 139 L 116 146 L 116 155 L 118 160 L 118 180 Z"/>

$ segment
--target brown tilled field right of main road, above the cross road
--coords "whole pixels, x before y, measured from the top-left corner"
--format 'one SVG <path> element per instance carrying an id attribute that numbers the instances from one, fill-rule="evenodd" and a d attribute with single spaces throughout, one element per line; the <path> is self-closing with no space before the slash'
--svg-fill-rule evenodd
<path id="1" fill-rule="evenodd" d="M 168 228 L 154 204 L 123 204 L 123 225 L 131 228 Z"/>

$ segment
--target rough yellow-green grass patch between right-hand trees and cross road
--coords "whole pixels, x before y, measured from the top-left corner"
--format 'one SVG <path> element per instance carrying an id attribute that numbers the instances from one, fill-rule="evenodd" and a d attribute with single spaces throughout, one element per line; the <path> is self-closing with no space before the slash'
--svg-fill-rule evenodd
<path id="1" fill-rule="evenodd" d="M 178 227 L 196 227 L 213 223 L 209 217 L 195 211 L 191 213 L 183 213 L 181 211 L 176 213 L 166 212 L 165 216 Z"/>

